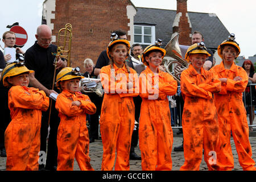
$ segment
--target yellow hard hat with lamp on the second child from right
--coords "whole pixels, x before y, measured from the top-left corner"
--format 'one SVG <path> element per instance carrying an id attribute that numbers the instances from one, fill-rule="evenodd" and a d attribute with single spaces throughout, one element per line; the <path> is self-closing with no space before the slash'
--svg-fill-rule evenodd
<path id="1" fill-rule="evenodd" d="M 204 42 L 195 43 L 187 49 L 187 52 L 185 54 L 185 60 L 187 60 L 188 62 L 191 61 L 189 59 L 189 55 L 191 53 L 203 53 L 207 56 L 211 56 L 210 53 L 207 51 L 207 48 L 204 46 Z"/>

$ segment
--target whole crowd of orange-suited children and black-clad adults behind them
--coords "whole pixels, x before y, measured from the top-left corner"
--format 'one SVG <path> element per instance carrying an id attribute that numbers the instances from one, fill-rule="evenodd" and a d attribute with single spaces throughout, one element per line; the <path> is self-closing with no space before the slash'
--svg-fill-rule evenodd
<path id="1" fill-rule="evenodd" d="M 16 61 L 11 63 L 11 55 L 0 51 L 4 111 L 0 149 L 1 156 L 7 156 L 6 170 L 68 171 L 76 159 L 82 171 L 92 171 L 89 143 L 100 137 L 101 170 L 129 170 L 129 160 L 141 160 L 143 171 L 171 170 L 175 103 L 181 106 L 184 137 L 183 144 L 174 148 L 184 151 L 180 170 L 199 170 L 203 154 L 210 171 L 232 170 L 232 133 L 241 167 L 255 171 L 242 93 L 246 90 L 246 99 L 252 98 L 247 106 L 253 106 L 255 86 L 251 89 L 247 84 L 255 83 L 256 75 L 251 61 L 242 67 L 234 63 L 240 47 L 233 34 L 218 46 L 222 62 L 214 65 L 203 34 L 193 32 L 180 88 L 162 64 L 166 50 L 161 40 L 143 49 L 141 44 L 130 46 L 126 32 L 114 31 L 96 65 L 85 59 L 81 74 L 79 68 L 68 67 L 67 60 L 52 54 L 57 47 L 51 44 L 52 32 L 46 24 L 38 27 L 35 38 L 26 52 L 16 48 Z M 5 32 L 3 42 L 13 48 L 15 34 Z M 81 91 L 85 77 L 101 82 L 103 97 Z M 57 97 L 49 98 L 52 94 Z M 250 125 L 253 119 L 250 113 Z M 138 143 L 141 156 L 134 150 Z"/>

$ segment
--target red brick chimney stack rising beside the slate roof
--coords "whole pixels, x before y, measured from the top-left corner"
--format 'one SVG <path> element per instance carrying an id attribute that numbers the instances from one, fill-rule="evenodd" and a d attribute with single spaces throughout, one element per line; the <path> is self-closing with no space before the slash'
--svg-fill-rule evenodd
<path id="1" fill-rule="evenodd" d="M 191 22 L 188 16 L 187 0 L 177 0 L 177 11 L 172 24 L 172 33 L 179 33 L 179 44 L 191 45 Z"/>

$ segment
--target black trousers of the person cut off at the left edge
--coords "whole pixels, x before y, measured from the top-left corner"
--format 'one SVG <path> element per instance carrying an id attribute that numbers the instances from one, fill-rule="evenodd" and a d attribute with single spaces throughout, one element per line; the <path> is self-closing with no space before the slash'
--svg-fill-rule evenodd
<path id="1" fill-rule="evenodd" d="M 11 122 L 10 109 L 8 107 L 8 92 L 9 89 L 0 83 L 0 150 L 5 148 L 5 130 Z"/>

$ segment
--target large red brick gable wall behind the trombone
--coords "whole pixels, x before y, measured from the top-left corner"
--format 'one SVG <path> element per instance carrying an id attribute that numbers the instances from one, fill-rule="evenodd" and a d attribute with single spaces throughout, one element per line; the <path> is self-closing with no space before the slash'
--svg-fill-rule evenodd
<path id="1" fill-rule="evenodd" d="M 56 35 L 66 23 L 72 24 L 72 67 L 79 66 L 84 72 L 83 62 L 86 58 L 94 64 L 101 51 L 110 42 L 110 33 L 121 28 L 129 30 L 127 24 L 127 0 L 56 0 L 55 19 L 52 35 Z M 130 40 L 130 36 L 127 36 Z M 56 44 L 56 43 L 53 43 Z"/>

